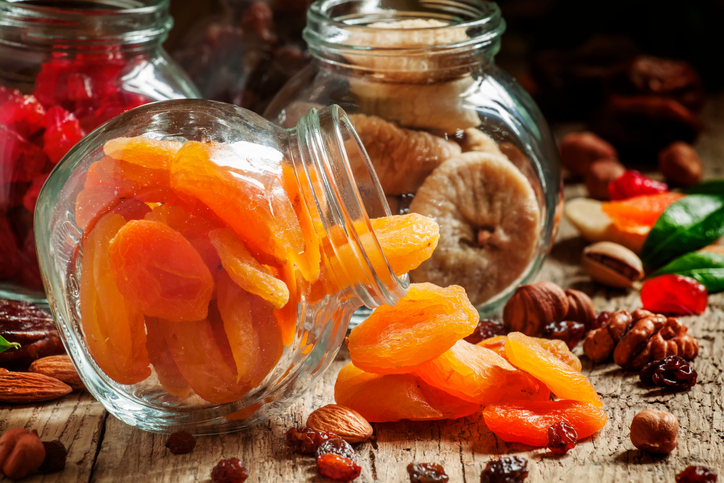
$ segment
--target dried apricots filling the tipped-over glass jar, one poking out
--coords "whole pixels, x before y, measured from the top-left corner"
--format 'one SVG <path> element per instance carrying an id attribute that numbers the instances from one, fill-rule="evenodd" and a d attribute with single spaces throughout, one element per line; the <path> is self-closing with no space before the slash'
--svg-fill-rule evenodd
<path id="1" fill-rule="evenodd" d="M 91 355 L 120 384 L 153 367 L 169 394 L 235 401 L 294 341 L 302 298 L 364 280 L 343 260 L 344 240 L 331 247 L 341 234 L 308 208 L 291 166 L 262 172 L 229 145 L 147 137 L 103 151 L 76 198 L 80 311 Z M 371 226 L 387 261 L 370 263 L 399 275 L 439 236 L 421 215 Z M 372 241 L 361 235 L 363 246 Z"/>

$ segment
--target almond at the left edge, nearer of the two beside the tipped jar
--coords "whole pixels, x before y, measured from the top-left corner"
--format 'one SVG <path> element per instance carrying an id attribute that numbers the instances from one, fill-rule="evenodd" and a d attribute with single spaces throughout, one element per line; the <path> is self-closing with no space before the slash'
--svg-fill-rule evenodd
<path id="1" fill-rule="evenodd" d="M 71 392 L 73 392 L 72 387 L 44 374 L 0 373 L 0 402 L 24 404 L 49 401 Z"/>

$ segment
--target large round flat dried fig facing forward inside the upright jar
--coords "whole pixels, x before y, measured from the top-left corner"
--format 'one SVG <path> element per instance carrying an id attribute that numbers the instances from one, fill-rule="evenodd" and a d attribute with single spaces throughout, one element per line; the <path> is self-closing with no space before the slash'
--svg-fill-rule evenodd
<path id="1" fill-rule="evenodd" d="M 412 280 L 461 285 L 474 305 L 514 283 L 538 244 L 535 193 L 500 156 L 470 152 L 445 161 L 417 191 L 410 211 L 440 225 L 437 249 L 411 272 Z"/>

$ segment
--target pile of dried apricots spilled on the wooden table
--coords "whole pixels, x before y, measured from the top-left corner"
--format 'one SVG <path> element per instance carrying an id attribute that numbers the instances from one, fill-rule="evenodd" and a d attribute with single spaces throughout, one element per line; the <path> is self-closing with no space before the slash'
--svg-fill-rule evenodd
<path id="1" fill-rule="evenodd" d="M 337 404 L 371 422 L 482 410 L 498 437 L 531 446 L 546 446 L 557 423 L 574 428 L 578 439 L 603 428 L 603 404 L 565 342 L 520 332 L 462 340 L 477 323 L 461 287 L 412 284 L 396 306 L 376 309 L 352 329 L 352 361 L 337 377 Z"/>

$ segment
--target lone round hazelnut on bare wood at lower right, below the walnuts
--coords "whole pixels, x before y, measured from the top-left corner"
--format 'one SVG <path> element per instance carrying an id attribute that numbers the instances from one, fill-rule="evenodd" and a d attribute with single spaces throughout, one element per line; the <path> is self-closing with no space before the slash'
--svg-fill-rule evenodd
<path id="1" fill-rule="evenodd" d="M 631 442 L 647 453 L 668 454 L 676 448 L 679 422 L 666 411 L 645 409 L 631 421 Z"/>

